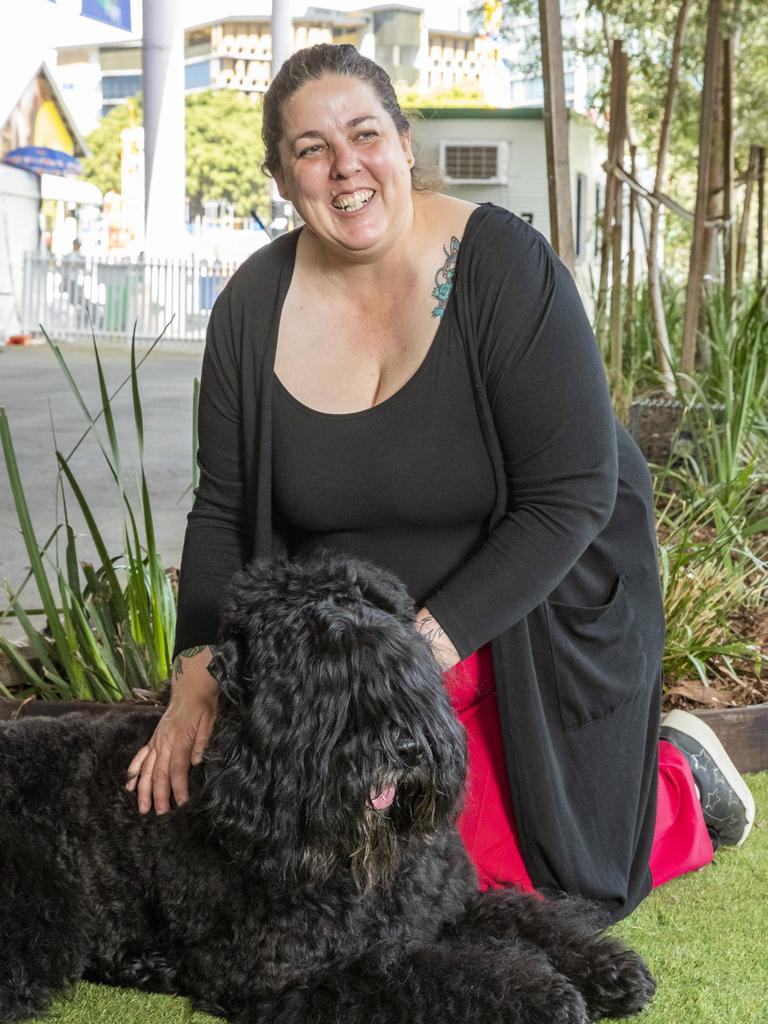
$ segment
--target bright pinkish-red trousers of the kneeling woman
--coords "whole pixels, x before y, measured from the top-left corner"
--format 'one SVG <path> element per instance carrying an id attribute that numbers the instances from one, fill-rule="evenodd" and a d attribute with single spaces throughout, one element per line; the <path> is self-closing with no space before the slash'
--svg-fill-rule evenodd
<path id="1" fill-rule="evenodd" d="M 517 845 L 489 647 L 445 673 L 454 711 L 467 730 L 469 771 L 459 833 L 483 889 L 534 884 Z M 703 867 L 714 853 L 688 762 L 658 744 L 658 808 L 650 870 L 653 887 Z"/>

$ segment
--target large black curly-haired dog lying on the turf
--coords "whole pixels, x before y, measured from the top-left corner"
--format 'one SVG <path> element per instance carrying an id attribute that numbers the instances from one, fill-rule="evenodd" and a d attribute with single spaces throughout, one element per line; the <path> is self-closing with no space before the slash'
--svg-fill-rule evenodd
<path id="1" fill-rule="evenodd" d="M 387 573 L 240 573 L 186 805 L 125 769 L 156 714 L 0 723 L 0 1020 L 79 978 L 253 1024 L 580 1024 L 639 1011 L 641 959 L 581 905 L 480 894 L 454 827 L 463 730 Z"/>

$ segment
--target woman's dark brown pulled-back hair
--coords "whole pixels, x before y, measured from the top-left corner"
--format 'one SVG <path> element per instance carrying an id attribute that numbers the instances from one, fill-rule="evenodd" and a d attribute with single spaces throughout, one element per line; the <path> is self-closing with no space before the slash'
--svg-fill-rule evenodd
<path id="1" fill-rule="evenodd" d="M 398 134 L 404 135 L 411 122 L 400 110 L 389 75 L 374 60 L 364 56 L 350 43 L 334 45 L 317 43 L 297 50 L 280 69 L 261 100 L 261 137 L 264 142 L 264 163 L 262 169 L 274 176 L 281 161 L 278 144 L 283 138 L 283 108 L 295 92 L 307 82 L 325 75 L 348 75 L 360 82 L 368 82 L 379 101 L 394 122 Z M 414 188 L 434 188 L 438 182 L 434 174 L 423 175 L 416 165 L 411 168 Z"/>

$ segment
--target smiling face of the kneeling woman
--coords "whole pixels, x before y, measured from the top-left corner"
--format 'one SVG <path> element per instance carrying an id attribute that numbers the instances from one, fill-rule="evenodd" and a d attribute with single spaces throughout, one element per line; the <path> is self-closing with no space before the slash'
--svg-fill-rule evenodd
<path id="1" fill-rule="evenodd" d="M 368 82 L 326 75 L 302 86 L 283 106 L 279 153 L 280 193 L 323 242 L 371 255 L 409 224 L 411 136 Z"/>

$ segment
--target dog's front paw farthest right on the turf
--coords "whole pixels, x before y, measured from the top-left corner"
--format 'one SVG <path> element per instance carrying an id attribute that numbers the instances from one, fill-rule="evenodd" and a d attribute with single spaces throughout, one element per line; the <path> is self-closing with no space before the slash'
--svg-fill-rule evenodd
<path id="1" fill-rule="evenodd" d="M 638 1014 L 656 991 L 650 971 L 632 949 L 604 947 L 590 968 L 585 996 L 591 1020 Z"/>

